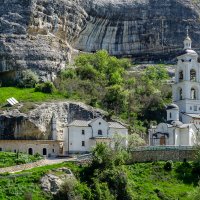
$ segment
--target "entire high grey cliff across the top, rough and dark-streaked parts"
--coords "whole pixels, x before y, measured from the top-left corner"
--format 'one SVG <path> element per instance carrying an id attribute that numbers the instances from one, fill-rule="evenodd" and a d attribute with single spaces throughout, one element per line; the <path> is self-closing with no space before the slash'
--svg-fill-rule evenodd
<path id="1" fill-rule="evenodd" d="M 74 49 L 170 60 L 186 26 L 199 51 L 199 15 L 193 0 L 1 0 L 0 79 L 31 68 L 52 80 Z"/>

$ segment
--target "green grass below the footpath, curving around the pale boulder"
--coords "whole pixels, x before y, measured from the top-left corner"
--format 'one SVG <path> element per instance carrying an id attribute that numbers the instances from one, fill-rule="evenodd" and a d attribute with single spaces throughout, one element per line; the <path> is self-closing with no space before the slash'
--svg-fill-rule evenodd
<path id="1" fill-rule="evenodd" d="M 72 163 L 62 163 L 45 167 L 38 167 L 16 175 L 0 176 L 0 199 L 9 200 L 45 200 L 51 196 L 43 193 L 40 188 L 40 178 L 51 169 L 69 167 L 76 174 L 80 169 Z M 27 198 L 30 197 L 31 198 Z"/>

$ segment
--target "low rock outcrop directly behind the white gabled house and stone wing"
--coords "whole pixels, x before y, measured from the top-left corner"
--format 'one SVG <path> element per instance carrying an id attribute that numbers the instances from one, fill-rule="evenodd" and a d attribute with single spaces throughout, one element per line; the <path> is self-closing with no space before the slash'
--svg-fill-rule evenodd
<path id="1" fill-rule="evenodd" d="M 75 119 L 90 120 L 105 112 L 82 103 L 57 102 L 35 105 L 27 114 L 20 109 L 0 114 L 0 139 L 53 139 L 53 122 L 57 140 L 63 139 L 63 127 Z"/>

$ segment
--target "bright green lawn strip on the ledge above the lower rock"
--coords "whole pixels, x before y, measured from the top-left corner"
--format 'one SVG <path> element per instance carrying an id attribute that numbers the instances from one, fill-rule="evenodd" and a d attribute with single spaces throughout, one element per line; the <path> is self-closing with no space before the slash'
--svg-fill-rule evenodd
<path id="1" fill-rule="evenodd" d="M 35 92 L 34 88 L 15 88 L 15 87 L 0 87 L 0 105 L 6 103 L 6 99 L 14 97 L 19 102 L 42 102 L 49 100 L 65 99 L 64 95 L 57 92 L 53 94 L 45 94 L 42 92 Z"/>

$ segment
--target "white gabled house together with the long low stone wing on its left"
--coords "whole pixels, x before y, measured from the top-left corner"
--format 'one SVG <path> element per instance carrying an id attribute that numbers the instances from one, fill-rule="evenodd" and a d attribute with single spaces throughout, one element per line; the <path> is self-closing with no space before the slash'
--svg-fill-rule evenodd
<path id="1" fill-rule="evenodd" d="M 41 154 L 47 157 L 86 153 L 91 151 L 97 142 L 112 145 L 113 137 L 122 136 L 127 145 L 128 129 L 118 122 L 106 122 L 101 117 L 90 121 L 75 120 L 63 127 L 63 136 L 57 132 L 57 120 L 53 115 L 52 137 L 47 140 L 13 139 L 0 140 L 0 151 L 24 152 Z"/>

